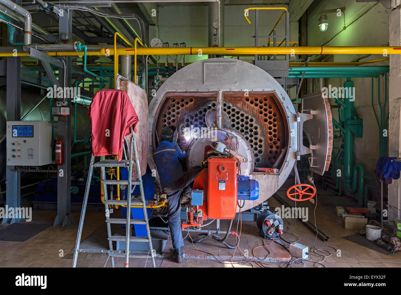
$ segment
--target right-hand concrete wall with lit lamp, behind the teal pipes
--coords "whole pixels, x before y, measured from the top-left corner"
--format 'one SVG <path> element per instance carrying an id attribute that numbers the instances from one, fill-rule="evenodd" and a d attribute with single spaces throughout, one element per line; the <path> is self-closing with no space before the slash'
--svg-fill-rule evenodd
<path id="1" fill-rule="evenodd" d="M 336 13 L 327 14 L 329 25 L 325 32 L 321 32 L 318 26 L 319 14 L 321 10 L 328 10 L 345 6 L 344 16 L 336 16 Z M 389 14 L 391 9 L 386 9 L 383 5 L 375 2 L 355 2 L 346 0 L 323 0 L 314 1 L 308 9 L 308 46 L 386 46 L 389 44 Z M 314 16 L 316 15 L 316 19 Z M 368 61 L 383 58 L 383 55 L 334 55 L 327 57 L 324 61 L 349 62 L 349 61 Z M 389 61 L 374 63 L 369 65 L 388 65 Z M 324 86 L 342 87 L 344 79 L 328 78 L 324 79 Z M 365 167 L 366 174 L 372 176 L 372 170 L 376 167 L 379 158 L 379 127 L 373 113 L 372 99 L 372 79 L 352 78 L 355 87 L 356 116 L 363 120 L 363 138 L 354 138 L 354 164 L 360 163 Z M 373 101 L 380 121 L 380 108 L 378 104 L 377 78 L 373 79 Z M 384 77 L 380 77 L 380 98 L 384 103 Z M 389 85 L 389 75 L 387 74 L 387 88 Z M 319 89 L 320 90 L 320 89 Z M 389 111 L 388 89 L 386 115 Z M 335 105 L 334 100 L 330 99 L 330 104 Z M 332 109 L 333 117 L 338 121 L 337 108 Z M 388 125 L 387 125 L 388 126 Z M 337 133 L 338 134 L 338 133 Z M 334 145 L 339 145 L 338 140 Z M 333 152 L 336 152 L 334 150 Z"/>

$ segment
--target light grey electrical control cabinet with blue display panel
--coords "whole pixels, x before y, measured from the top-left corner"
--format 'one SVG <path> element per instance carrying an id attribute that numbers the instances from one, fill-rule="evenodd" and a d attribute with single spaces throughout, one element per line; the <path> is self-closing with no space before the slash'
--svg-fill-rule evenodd
<path id="1" fill-rule="evenodd" d="M 47 121 L 7 121 L 7 165 L 51 164 L 51 126 Z"/>

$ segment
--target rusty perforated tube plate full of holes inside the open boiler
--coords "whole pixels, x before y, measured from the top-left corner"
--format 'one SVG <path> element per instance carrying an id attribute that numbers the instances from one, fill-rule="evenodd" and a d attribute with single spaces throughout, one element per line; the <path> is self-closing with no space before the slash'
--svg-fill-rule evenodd
<path id="1" fill-rule="evenodd" d="M 229 115 L 230 129 L 234 129 L 249 142 L 253 150 L 255 167 L 271 168 L 282 148 L 287 146 L 288 127 L 283 111 L 274 93 L 223 93 L 223 111 Z M 156 134 L 172 125 L 184 127 L 207 127 L 205 113 L 217 106 L 217 93 L 168 94 L 159 108 Z M 188 151 L 192 139 L 178 132 L 177 144 Z"/>

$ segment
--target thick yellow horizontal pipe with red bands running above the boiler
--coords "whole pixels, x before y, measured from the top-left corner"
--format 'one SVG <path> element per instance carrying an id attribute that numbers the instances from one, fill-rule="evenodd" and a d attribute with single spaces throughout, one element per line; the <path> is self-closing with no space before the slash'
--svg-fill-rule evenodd
<path id="1" fill-rule="evenodd" d="M 401 54 L 401 46 L 270 46 L 270 47 L 160 47 L 149 48 L 102 48 L 99 51 L 88 51 L 87 56 L 114 55 L 321 55 L 321 54 Z M 0 57 L 12 57 L 15 54 L 0 53 Z M 18 56 L 27 56 L 28 53 L 18 53 Z M 79 56 L 83 52 L 61 51 L 49 52 L 50 56 Z M 118 70 L 118 67 L 117 67 Z"/>

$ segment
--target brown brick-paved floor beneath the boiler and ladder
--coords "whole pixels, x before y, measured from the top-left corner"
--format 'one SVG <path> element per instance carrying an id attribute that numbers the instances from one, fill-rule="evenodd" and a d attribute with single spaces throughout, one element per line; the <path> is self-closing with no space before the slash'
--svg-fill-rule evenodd
<path id="1" fill-rule="evenodd" d="M 283 192 L 279 192 L 281 195 Z M 341 250 L 341 257 L 337 257 L 335 254 L 326 258 L 323 265 L 326 267 L 401 267 L 401 253 L 395 255 L 385 255 L 366 247 L 354 244 L 348 240 L 342 238 L 349 234 L 353 234 L 354 230 L 346 230 L 341 226 L 341 217 L 336 216 L 334 212 L 334 206 L 328 204 L 324 196 L 318 196 L 318 207 L 316 209 L 316 222 L 317 226 L 324 231 L 330 239 L 324 243 L 320 238 L 316 241 L 316 247 L 329 245 L 335 249 Z M 287 199 L 288 200 L 288 199 Z M 320 200 L 320 202 L 319 202 Z M 275 199 L 269 198 L 269 205 L 271 207 L 281 206 Z M 302 206 L 308 206 L 309 208 L 309 219 L 313 222 L 313 209 L 314 204 L 310 202 L 304 202 Z M 117 210 L 115 210 L 117 211 Z M 51 224 L 55 212 L 53 211 L 38 211 L 33 210 L 32 222 L 35 223 L 47 223 Z M 77 221 L 79 220 L 80 212 L 73 212 L 75 218 L 75 224 L 67 227 L 49 227 L 43 232 L 33 236 L 25 242 L 9 242 L 0 241 L 0 267 L 71 267 L 72 262 L 72 249 L 75 246 L 75 238 L 77 234 Z M 119 214 L 119 212 L 115 212 Z M 85 217 L 85 225 L 83 228 L 82 239 L 89 236 L 94 232 L 101 224 L 104 223 L 104 214 L 102 212 L 87 212 Z M 284 222 L 284 231 L 290 225 L 289 232 L 295 234 L 300 240 L 299 242 L 308 246 L 313 247 L 316 235 L 307 228 L 298 219 L 289 219 Z M 214 224 L 211 224 L 207 228 L 213 228 Z M 221 221 L 221 230 L 224 231 L 227 228 L 228 222 L 226 220 Z M 7 224 L 0 226 L 0 229 Z M 106 226 L 105 226 L 106 230 Z M 233 222 L 231 230 L 237 231 L 237 222 Z M 239 233 L 239 229 L 238 229 Z M 183 236 L 186 237 L 187 232 L 183 232 Z M 196 232 L 190 232 L 192 238 L 196 235 Z M 294 236 L 289 234 L 285 235 L 287 238 L 296 239 Z M 227 241 L 230 244 L 235 244 L 235 236 L 230 235 Z M 183 264 L 178 265 L 174 263 L 171 257 L 172 244 L 169 239 L 162 255 L 156 257 L 157 267 L 258 267 L 254 262 L 247 263 L 242 266 L 239 264 L 231 264 L 233 261 L 245 261 L 245 255 L 252 257 L 252 249 L 263 245 L 263 238 L 259 235 L 258 229 L 255 222 L 243 221 L 241 230 L 241 242 L 240 249 L 235 251 L 228 249 L 222 243 L 217 242 L 212 238 L 206 238 L 205 240 L 196 243 L 195 246 L 199 250 L 207 251 L 215 255 L 221 263 L 217 262 L 213 256 L 201 252 L 194 248 L 189 238 L 186 237 L 184 245 L 184 253 L 186 254 L 186 260 Z M 270 244 L 270 240 L 265 240 L 265 244 Z M 267 251 L 264 247 L 255 249 L 255 257 L 264 258 L 267 255 L 271 258 L 265 263 L 269 267 L 279 267 L 280 263 L 276 260 L 288 259 L 288 252 L 283 246 L 277 243 L 273 243 L 267 247 Z M 330 250 L 331 251 L 331 250 Z M 61 252 L 63 252 L 61 255 Z M 318 258 L 314 258 L 318 260 Z M 97 254 L 85 254 L 81 253 L 78 257 L 77 267 L 103 267 L 105 265 L 106 255 Z M 115 260 L 116 267 L 122 267 L 124 265 L 124 259 L 118 258 Z M 245 263 L 244 263 L 245 264 Z M 130 267 L 152 267 L 151 260 L 149 259 L 130 259 Z M 105 265 L 111 267 L 110 261 Z M 285 265 L 284 265 L 285 266 Z M 298 266 L 298 265 L 297 265 Z M 312 262 L 305 262 L 304 267 L 313 267 Z"/>

